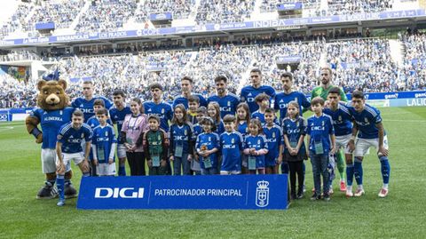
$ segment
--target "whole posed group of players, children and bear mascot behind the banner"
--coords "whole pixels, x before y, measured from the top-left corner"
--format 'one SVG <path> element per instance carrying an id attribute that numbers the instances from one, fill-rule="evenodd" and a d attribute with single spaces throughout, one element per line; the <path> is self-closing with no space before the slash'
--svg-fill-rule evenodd
<path id="1" fill-rule="evenodd" d="M 348 101 L 333 85 L 331 68 L 319 74 L 311 100 L 294 91 L 291 73 L 282 73 L 276 79 L 282 89 L 273 89 L 257 68 L 238 96 L 227 89 L 226 76 L 216 76 L 216 93 L 209 97 L 193 92 L 196 79 L 185 76 L 181 95 L 170 102 L 163 99 L 162 84 L 149 85 L 146 99 L 152 100 L 143 102 L 126 99 L 120 89 L 94 96 L 97 85 L 85 81 L 82 97 L 66 108 L 36 108 L 27 118 L 28 132 L 42 143 L 46 182 L 37 198 L 59 196 L 62 206 L 76 196 L 71 162 L 83 177 L 288 173 L 291 200 L 304 198 L 310 164 L 312 201 L 329 201 L 335 178 L 347 197 L 359 197 L 365 194 L 362 163 L 370 147 L 381 164 L 378 196 L 386 197 L 389 147 L 380 111 L 366 104 L 363 92 L 352 92 Z M 64 80 L 38 84 L 51 107 L 66 89 Z M 313 115 L 304 117 L 306 111 Z"/>

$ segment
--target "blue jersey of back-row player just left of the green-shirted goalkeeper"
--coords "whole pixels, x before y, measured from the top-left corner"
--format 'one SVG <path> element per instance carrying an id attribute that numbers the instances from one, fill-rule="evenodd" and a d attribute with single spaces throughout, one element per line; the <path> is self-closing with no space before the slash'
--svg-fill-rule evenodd
<path id="1" fill-rule="evenodd" d="M 273 103 L 273 108 L 275 110 L 280 110 L 280 123 L 287 115 L 288 103 L 290 101 L 296 101 L 299 104 L 299 115 L 303 116 L 303 108 L 311 108 L 311 102 L 306 99 L 306 96 L 302 92 L 291 92 L 286 94 L 280 92 L 275 96 L 275 101 Z"/>

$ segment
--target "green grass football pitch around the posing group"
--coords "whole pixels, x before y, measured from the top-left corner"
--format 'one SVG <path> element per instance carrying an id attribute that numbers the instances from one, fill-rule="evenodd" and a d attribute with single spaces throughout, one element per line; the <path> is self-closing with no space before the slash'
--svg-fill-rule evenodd
<path id="1" fill-rule="evenodd" d="M 382 176 L 371 150 L 363 163 L 366 195 L 347 199 L 335 181 L 330 202 L 311 202 L 312 165 L 305 162 L 306 195 L 288 211 L 79 211 L 76 199 L 59 208 L 57 199 L 36 200 L 44 179 L 40 145 L 23 122 L 0 123 L 0 238 L 424 238 L 426 108 L 381 111 L 390 142 L 388 197 L 377 196 Z M 78 189 L 81 172 L 73 168 Z"/>

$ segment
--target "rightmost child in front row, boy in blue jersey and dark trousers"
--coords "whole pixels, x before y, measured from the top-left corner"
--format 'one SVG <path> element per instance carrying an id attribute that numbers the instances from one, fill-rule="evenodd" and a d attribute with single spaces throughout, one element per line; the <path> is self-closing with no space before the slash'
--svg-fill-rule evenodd
<path id="1" fill-rule="evenodd" d="M 311 101 L 313 116 L 308 118 L 306 134 L 312 163 L 313 184 L 315 192 L 311 200 L 321 199 L 321 175 L 323 180 L 324 200 L 330 200 L 329 173 L 327 164 L 329 154 L 335 154 L 335 129 L 330 116 L 324 115 L 324 100 L 315 97 Z M 330 140 L 331 139 L 331 140 Z"/>

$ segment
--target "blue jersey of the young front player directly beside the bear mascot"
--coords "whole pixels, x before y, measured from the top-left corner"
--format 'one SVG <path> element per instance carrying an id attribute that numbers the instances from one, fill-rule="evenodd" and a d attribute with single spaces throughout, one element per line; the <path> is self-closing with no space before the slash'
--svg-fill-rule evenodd
<path id="1" fill-rule="evenodd" d="M 82 141 L 91 142 L 93 132 L 91 126 L 83 123 L 79 129 L 73 128 L 73 123 L 62 125 L 58 134 L 58 141 L 62 143 L 62 152 L 74 154 L 83 152 Z"/>

